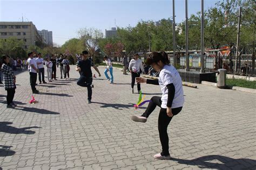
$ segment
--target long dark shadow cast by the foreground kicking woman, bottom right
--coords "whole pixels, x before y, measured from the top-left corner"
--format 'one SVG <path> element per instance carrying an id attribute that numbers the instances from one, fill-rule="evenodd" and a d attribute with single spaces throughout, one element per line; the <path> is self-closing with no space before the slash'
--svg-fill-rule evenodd
<path id="1" fill-rule="evenodd" d="M 255 169 L 256 160 L 253 159 L 233 159 L 222 155 L 207 155 L 197 159 L 178 159 L 171 158 L 171 160 L 178 161 L 179 164 L 198 165 L 199 168 L 213 168 L 213 169 Z M 218 163 L 214 163 L 218 161 Z M 220 163 L 219 163 L 220 162 Z"/>

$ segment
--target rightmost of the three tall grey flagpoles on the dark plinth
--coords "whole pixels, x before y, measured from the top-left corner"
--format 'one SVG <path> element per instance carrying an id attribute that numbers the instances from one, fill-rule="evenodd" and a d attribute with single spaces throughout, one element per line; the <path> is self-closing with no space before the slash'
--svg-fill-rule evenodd
<path id="1" fill-rule="evenodd" d="M 204 0 L 201 0 L 201 69 L 200 73 L 204 73 Z"/>

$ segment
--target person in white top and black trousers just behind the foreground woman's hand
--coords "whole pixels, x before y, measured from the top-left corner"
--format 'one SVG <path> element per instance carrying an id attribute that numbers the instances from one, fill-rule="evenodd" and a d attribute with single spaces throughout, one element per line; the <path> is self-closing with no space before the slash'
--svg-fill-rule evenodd
<path id="1" fill-rule="evenodd" d="M 132 93 L 134 93 L 133 87 L 134 87 L 135 79 L 136 79 L 136 77 L 140 76 L 140 69 L 144 73 L 144 68 L 143 68 L 143 65 L 142 65 L 142 60 L 139 59 L 139 54 L 135 54 L 134 55 L 134 59 L 132 59 L 130 61 L 130 64 L 129 64 L 129 70 L 130 70 L 130 73 L 132 75 L 132 83 L 131 83 Z M 137 83 L 137 89 L 138 89 L 138 93 L 139 93 L 139 91 L 140 91 L 140 83 Z"/>

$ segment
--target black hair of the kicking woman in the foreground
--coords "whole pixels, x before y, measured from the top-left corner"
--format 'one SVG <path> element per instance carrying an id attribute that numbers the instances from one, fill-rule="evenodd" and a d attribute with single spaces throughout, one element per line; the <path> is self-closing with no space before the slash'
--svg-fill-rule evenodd
<path id="1" fill-rule="evenodd" d="M 152 52 L 147 56 L 147 65 L 152 65 L 152 63 L 158 63 L 159 61 L 162 61 L 164 65 L 170 65 L 170 61 L 168 58 L 168 55 L 164 52 Z"/>

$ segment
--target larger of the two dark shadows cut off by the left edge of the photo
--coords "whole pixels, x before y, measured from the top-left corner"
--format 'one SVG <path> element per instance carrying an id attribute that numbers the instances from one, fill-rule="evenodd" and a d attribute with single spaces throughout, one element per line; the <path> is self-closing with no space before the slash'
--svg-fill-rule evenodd
<path id="1" fill-rule="evenodd" d="M 40 128 L 38 126 L 31 126 L 27 128 L 15 128 L 10 126 L 11 122 L 0 122 L 0 132 L 11 133 L 11 134 L 34 134 L 35 131 L 27 130 L 31 128 Z"/>

